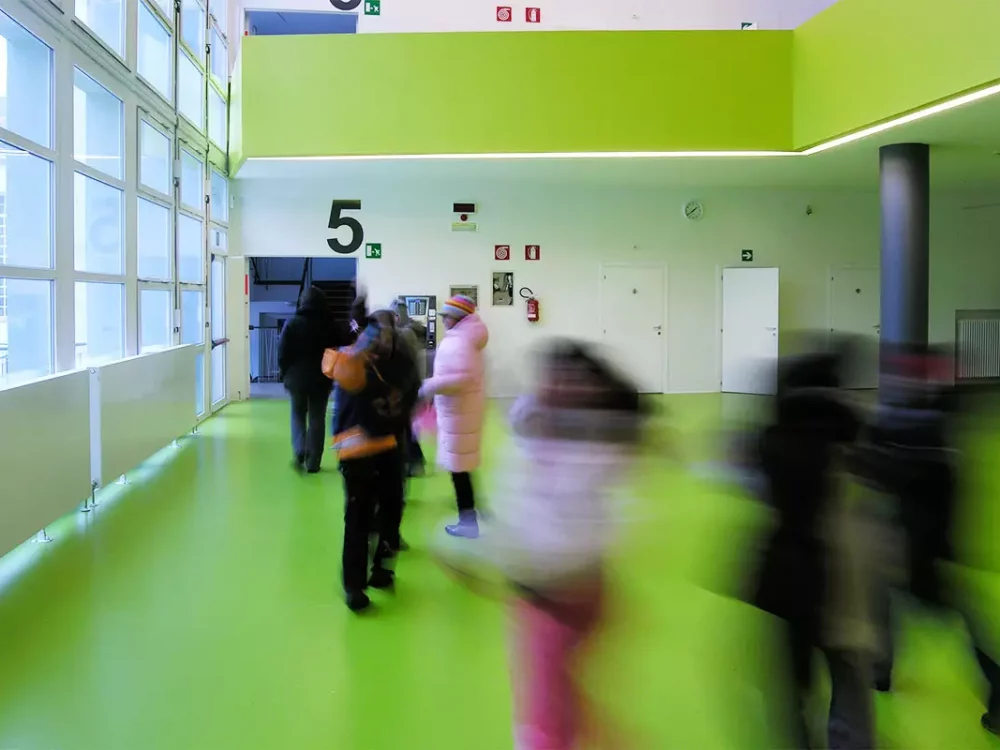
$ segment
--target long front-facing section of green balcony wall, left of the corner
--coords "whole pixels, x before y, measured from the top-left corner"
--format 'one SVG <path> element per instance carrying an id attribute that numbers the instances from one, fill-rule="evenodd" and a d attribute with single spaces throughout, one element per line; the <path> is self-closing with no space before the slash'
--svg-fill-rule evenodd
<path id="1" fill-rule="evenodd" d="M 246 156 L 787 149 L 791 32 L 247 37 Z"/>

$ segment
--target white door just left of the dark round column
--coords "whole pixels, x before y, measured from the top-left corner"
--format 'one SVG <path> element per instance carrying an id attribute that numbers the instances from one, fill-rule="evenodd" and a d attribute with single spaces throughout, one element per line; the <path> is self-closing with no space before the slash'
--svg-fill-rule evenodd
<path id="1" fill-rule="evenodd" d="M 843 375 L 845 388 L 878 388 L 881 279 L 877 268 L 841 268 L 830 273 L 830 332 L 857 345 Z"/>

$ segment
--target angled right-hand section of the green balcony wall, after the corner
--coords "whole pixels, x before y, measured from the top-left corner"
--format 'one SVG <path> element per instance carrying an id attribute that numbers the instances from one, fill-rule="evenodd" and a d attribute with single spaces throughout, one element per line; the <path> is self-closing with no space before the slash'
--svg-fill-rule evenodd
<path id="1" fill-rule="evenodd" d="M 796 148 L 1000 79 L 1000 0 L 840 0 L 795 30 Z"/>

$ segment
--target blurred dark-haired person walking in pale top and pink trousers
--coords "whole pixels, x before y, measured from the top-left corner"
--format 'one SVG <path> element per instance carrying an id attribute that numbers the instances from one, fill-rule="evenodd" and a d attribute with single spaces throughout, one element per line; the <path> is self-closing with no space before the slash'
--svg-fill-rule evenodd
<path id="1" fill-rule="evenodd" d="M 580 673 L 605 621 L 615 494 L 646 416 L 638 389 L 588 348 L 554 346 L 535 392 L 511 409 L 511 461 L 498 475 L 495 518 L 476 544 L 456 539 L 439 550 L 467 582 L 481 586 L 492 570 L 500 590 L 514 594 L 518 750 L 624 747 L 586 700 Z"/>

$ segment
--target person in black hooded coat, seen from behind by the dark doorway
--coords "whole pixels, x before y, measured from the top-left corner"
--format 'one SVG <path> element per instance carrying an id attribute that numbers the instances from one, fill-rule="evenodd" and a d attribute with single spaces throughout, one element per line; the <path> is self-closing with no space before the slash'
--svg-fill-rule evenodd
<path id="1" fill-rule="evenodd" d="M 323 352 L 341 341 L 322 290 L 310 287 L 285 324 L 278 342 L 278 369 L 292 399 L 292 450 L 295 466 L 319 471 L 325 441 L 326 405 L 330 380 L 323 374 Z"/>

